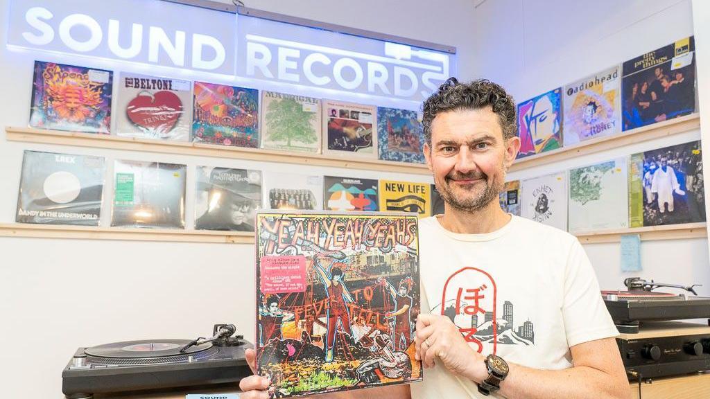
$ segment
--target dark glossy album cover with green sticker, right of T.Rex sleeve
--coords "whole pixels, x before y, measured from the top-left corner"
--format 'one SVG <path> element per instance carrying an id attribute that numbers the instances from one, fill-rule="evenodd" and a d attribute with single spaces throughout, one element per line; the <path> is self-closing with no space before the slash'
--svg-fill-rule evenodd
<path id="1" fill-rule="evenodd" d="M 116 160 L 111 226 L 185 228 L 185 165 Z"/>

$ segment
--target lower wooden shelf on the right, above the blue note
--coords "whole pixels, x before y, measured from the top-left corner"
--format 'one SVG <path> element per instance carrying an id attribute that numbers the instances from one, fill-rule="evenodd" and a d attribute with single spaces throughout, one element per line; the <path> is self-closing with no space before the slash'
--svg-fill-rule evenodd
<path id="1" fill-rule="evenodd" d="M 704 239 L 708 236 L 706 223 L 668 224 L 635 227 L 632 229 L 590 231 L 574 234 L 581 244 L 601 244 L 621 241 L 626 234 L 639 234 L 641 241 Z"/>

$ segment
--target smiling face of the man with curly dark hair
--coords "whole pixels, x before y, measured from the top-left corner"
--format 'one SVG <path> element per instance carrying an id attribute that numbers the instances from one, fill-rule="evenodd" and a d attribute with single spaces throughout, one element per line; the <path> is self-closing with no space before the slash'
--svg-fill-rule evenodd
<path id="1" fill-rule="evenodd" d="M 438 114 L 431 130 L 432 143 L 425 144 L 424 155 L 442 199 L 465 212 L 479 211 L 496 200 L 520 138 L 503 140 L 490 106 Z"/>

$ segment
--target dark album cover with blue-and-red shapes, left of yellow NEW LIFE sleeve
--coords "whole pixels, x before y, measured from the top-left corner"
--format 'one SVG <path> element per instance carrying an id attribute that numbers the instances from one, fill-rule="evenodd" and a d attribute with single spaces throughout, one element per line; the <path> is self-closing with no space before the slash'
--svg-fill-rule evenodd
<path id="1" fill-rule="evenodd" d="M 377 180 L 356 177 L 323 177 L 323 209 L 327 211 L 377 211 Z"/>

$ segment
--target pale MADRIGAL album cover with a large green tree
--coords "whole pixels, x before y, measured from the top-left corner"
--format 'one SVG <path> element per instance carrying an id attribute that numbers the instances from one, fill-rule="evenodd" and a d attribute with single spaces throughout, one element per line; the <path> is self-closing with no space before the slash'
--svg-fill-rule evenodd
<path id="1" fill-rule="evenodd" d="M 320 99 L 261 92 L 261 148 L 320 153 Z"/>

